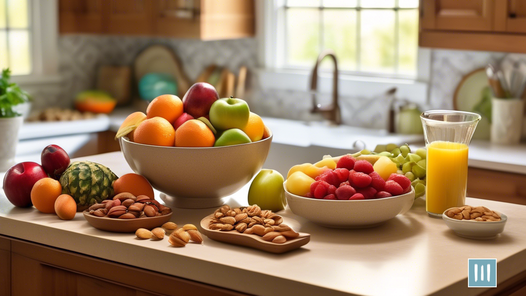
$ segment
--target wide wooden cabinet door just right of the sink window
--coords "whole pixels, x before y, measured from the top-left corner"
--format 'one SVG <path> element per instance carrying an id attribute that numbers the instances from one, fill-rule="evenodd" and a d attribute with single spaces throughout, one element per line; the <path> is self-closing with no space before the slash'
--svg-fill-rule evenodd
<path id="1" fill-rule="evenodd" d="M 491 0 L 422 0 L 422 27 L 455 31 L 492 31 Z"/>

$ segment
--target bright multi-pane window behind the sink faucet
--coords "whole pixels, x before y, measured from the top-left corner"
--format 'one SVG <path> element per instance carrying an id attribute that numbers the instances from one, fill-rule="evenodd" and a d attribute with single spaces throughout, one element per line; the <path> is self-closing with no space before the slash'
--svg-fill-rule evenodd
<path id="1" fill-rule="evenodd" d="M 312 68 L 332 48 L 342 72 L 416 77 L 418 0 L 283 0 L 276 6 L 276 66 Z M 327 62 L 327 66 L 331 66 Z M 322 64 L 323 67 L 323 64 Z"/>

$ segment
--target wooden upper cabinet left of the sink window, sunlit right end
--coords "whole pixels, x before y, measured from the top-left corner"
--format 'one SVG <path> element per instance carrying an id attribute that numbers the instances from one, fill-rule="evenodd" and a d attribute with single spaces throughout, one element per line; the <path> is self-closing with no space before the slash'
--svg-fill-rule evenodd
<path id="1" fill-rule="evenodd" d="M 60 0 L 60 33 L 201 40 L 254 36 L 254 0 Z"/>

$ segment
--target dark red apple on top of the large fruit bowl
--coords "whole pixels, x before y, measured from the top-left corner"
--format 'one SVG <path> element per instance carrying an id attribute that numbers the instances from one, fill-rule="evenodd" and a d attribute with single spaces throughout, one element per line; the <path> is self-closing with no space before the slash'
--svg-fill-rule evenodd
<path id="1" fill-rule="evenodd" d="M 198 82 L 190 86 L 183 97 L 183 108 L 186 113 L 199 118 L 208 115 L 210 106 L 219 100 L 216 88 L 206 82 Z"/>

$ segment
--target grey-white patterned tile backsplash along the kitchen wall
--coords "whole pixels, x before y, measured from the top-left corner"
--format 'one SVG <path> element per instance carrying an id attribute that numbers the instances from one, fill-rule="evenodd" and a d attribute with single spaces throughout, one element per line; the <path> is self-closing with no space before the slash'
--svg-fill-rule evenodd
<path id="1" fill-rule="evenodd" d="M 59 37 L 58 42 L 62 84 L 55 95 L 49 95 L 49 92 L 41 97 L 35 95 L 33 107 L 36 109 L 49 105 L 70 106 L 76 93 L 94 87 L 99 66 L 131 65 L 135 56 L 151 44 L 164 44 L 172 48 L 190 80 L 194 80 L 201 70 L 210 64 L 226 66 L 234 73 L 237 73 L 241 65 L 246 65 L 250 74 L 254 74 L 257 68 L 255 38 L 203 42 L 152 37 L 63 35 Z M 433 50 L 429 103 L 423 107 L 451 109 L 453 93 L 464 75 L 488 63 L 497 63 L 506 55 L 493 52 Z M 518 56 L 526 60 L 526 55 Z M 246 99 L 250 101 L 252 110 L 258 114 L 296 120 L 320 119 L 319 115 L 310 113 L 311 96 L 307 90 L 262 90 L 256 81 L 249 79 L 250 91 Z M 341 98 L 344 109 L 342 113 L 350 114 L 360 110 L 367 99 Z M 320 95 L 319 100 L 328 102 L 330 98 L 328 95 Z M 346 108 L 348 110 L 345 110 Z M 386 114 L 371 113 L 370 116 L 377 118 Z"/>

